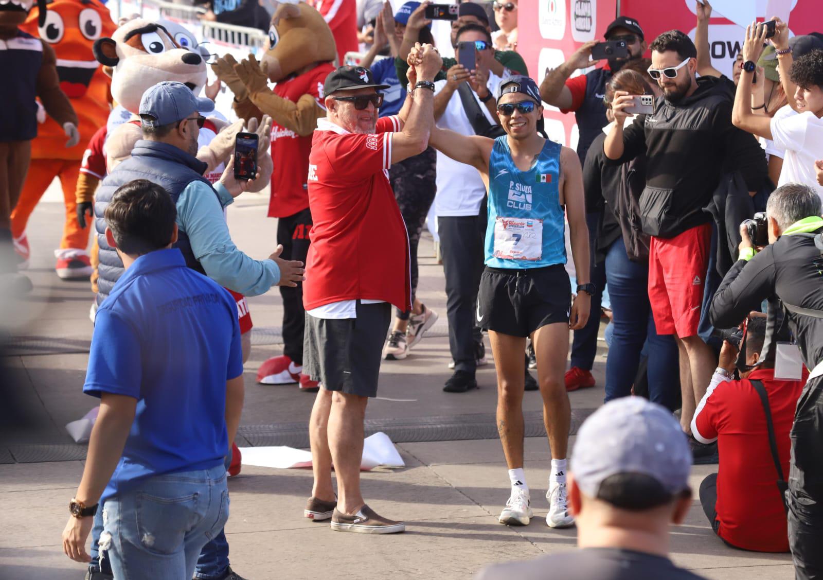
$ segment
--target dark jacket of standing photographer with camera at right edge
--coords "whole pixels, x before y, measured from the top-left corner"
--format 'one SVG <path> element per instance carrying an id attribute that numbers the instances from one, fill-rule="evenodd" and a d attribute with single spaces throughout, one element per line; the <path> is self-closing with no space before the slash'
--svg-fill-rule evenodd
<path id="1" fill-rule="evenodd" d="M 715 328 L 737 326 L 750 311 L 759 311 L 761 302 L 775 295 L 794 306 L 823 311 L 820 263 L 821 251 L 811 237 L 781 236 L 748 262 L 738 260 L 732 266 L 709 307 L 711 323 Z M 814 368 L 823 360 L 823 318 L 791 311 L 786 315 L 803 363 Z"/>

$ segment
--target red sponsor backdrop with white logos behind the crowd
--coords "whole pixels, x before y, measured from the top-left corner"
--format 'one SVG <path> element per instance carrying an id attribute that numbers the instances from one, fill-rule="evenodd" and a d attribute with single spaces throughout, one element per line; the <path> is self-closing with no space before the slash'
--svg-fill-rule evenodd
<path id="1" fill-rule="evenodd" d="M 746 4 L 759 21 L 766 19 L 767 0 L 725 1 L 737 8 Z M 823 31 L 821 0 L 787 0 L 786 3 L 791 8 L 788 26 L 793 34 Z M 740 22 L 720 16 L 722 5 L 723 0 L 713 4 L 709 43 L 714 67 L 730 75 L 745 28 L 739 26 Z M 694 6 L 695 0 L 622 0 L 621 13 L 639 21 L 649 42 L 672 28 L 683 30 L 694 38 Z M 520 0 L 518 52 L 525 58 L 531 76 L 539 83 L 546 75 L 546 68 L 558 66 L 581 44 L 587 40 L 602 40 L 603 30 L 615 16 L 616 0 Z M 745 26 L 745 22 L 743 24 Z M 562 115 L 553 107 L 546 107 L 546 132 L 560 143 L 573 148 L 577 146 L 574 115 Z"/>

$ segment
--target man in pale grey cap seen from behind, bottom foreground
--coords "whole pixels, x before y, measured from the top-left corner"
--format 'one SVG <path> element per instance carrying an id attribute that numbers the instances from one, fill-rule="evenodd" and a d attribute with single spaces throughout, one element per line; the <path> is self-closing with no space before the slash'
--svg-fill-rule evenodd
<path id="1" fill-rule="evenodd" d="M 569 500 L 579 550 L 485 568 L 476 580 L 694 580 L 668 559 L 668 531 L 691 506 L 691 451 L 672 414 L 639 397 L 612 400 L 577 436 Z"/>

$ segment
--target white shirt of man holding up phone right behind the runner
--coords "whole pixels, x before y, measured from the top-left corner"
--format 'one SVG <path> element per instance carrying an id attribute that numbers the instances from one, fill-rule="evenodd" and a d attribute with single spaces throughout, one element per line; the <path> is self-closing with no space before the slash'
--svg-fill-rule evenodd
<path id="1" fill-rule="evenodd" d="M 492 94 L 495 94 L 500 86 L 501 78 L 494 72 L 489 72 L 489 82 L 486 85 Z M 435 95 L 443 90 L 446 81 L 435 82 Z M 491 116 L 486 105 L 480 102 L 476 93 L 472 92 L 477 105 L 483 111 L 486 118 L 491 123 L 496 123 L 497 119 Z M 449 104 L 446 105 L 443 116 L 437 121 L 440 129 L 451 129 L 461 135 L 473 135 L 474 129 L 469 123 L 466 111 L 463 110 L 463 101 L 460 101 L 460 93 L 454 91 Z M 438 216 L 476 216 L 480 211 L 480 205 L 486 196 L 486 184 L 480 177 L 480 173 L 474 167 L 466 163 L 454 161 L 451 157 L 446 157 L 443 153 L 437 152 L 437 195 L 435 196 L 435 212 Z"/>

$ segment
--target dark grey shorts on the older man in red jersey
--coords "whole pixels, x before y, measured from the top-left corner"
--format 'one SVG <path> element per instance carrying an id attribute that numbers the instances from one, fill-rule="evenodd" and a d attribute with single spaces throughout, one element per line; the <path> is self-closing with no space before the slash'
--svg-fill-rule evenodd
<path id="1" fill-rule="evenodd" d="M 305 313 L 303 372 L 326 391 L 374 397 L 392 306 L 357 301 L 356 312 L 343 319 Z"/>

